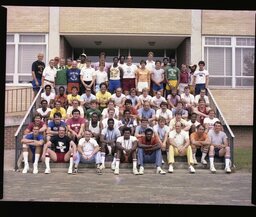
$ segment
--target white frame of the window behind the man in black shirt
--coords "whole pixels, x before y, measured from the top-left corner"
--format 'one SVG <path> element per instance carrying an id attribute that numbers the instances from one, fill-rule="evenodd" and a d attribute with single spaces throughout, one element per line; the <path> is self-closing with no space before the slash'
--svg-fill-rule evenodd
<path id="1" fill-rule="evenodd" d="M 44 54 L 44 62 L 48 63 L 48 34 L 46 33 L 7 33 L 7 35 L 13 35 L 14 36 L 14 42 L 6 42 L 7 45 L 14 45 L 14 72 L 13 73 L 6 73 L 6 76 L 13 76 L 13 83 L 6 83 L 6 86 L 31 86 L 30 83 L 19 83 L 19 76 L 26 76 L 27 74 L 25 73 L 18 73 L 18 54 L 19 54 L 19 45 L 45 45 L 45 50 L 46 53 Z M 31 35 L 31 36 L 36 36 L 36 35 L 42 35 L 45 36 L 45 42 L 20 42 L 19 38 L 21 35 Z M 31 66 L 32 63 L 36 59 L 31 60 Z M 31 68 L 30 66 L 30 68 Z M 32 75 L 31 75 L 32 77 Z"/>

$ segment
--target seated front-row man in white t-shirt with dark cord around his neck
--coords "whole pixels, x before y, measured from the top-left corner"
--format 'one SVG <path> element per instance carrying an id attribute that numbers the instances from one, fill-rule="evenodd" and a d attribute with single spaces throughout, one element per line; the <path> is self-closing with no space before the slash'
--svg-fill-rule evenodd
<path id="1" fill-rule="evenodd" d="M 119 165 L 120 162 L 132 163 L 133 165 L 133 174 L 139 175 L 137 170 L 137 157 L 136 149 L 138 143 L 135 136 L 131 136 L 131 128 L 125 127 L 123 129 L 123 136 L 119 137 L 116 141 L 116 167 L 114 174 L 119 174 Z"/>

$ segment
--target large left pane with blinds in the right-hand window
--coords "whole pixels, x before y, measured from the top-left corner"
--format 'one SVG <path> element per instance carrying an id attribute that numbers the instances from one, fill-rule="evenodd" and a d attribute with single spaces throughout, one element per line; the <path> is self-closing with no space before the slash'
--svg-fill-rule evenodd
<path id="1" fill-rule="evenodd" d="M 209 47 L 208 71 L 211 75 L 224 75 L 224 48 Z"/>

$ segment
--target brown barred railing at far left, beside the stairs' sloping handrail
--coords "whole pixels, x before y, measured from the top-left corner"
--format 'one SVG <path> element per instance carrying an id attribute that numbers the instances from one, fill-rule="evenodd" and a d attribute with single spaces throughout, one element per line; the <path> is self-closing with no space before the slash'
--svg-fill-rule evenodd
<path id="1" fill-rule="evenodd" d="M 33 100 L 31 87 L 5 90 L 5 113 L 25 112 Z"/>

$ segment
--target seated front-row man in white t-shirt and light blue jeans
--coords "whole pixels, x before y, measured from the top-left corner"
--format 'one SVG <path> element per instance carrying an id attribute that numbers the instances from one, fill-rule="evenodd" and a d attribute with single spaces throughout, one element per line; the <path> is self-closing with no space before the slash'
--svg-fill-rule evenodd
<path id="1" fill-rule="evenodd" d="M 96 163 L 97 174 L 102 174 L 100 147 L 92 137 L 90 130 L 85 130 L 84 138 L 78 142 L 78 155 L 74 161 L 74 173 L 78 172 L 79 163 Z"/>

